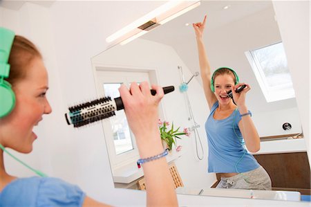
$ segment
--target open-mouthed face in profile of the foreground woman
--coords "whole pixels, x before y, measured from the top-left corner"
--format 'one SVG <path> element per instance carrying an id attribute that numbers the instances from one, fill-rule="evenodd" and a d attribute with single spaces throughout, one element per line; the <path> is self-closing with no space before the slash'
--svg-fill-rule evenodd
<path id="1" fill-rule="evenodd" d="M 43 114 L 52 109 L 46 99 L 48 73 L 40 57 L 28 64 L 25 77 L 15 83 L 16 105 L 12 112 L 0 119 L 0 142 L 18 152 L 29 153 L 37 135 L 32 132 Z"/>

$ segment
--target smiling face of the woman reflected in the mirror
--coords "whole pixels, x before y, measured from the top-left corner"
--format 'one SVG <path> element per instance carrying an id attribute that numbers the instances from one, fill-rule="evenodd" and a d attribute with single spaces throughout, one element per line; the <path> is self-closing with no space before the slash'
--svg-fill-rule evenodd
<path id="1" fill-rule="evenodd" d="M 234 86 L 234 75 L 224 73 L 217 75 L 214 79 L 215 95 L 220 105 L 227 105 L 232 102 L 231 98 L 228 98 L 227 92 Z"/>

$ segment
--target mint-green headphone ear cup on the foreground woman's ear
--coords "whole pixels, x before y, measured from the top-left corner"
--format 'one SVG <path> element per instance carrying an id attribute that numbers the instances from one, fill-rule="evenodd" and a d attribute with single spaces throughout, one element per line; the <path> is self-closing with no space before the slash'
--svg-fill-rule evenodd
<path id="1" fill-rule="evenodd" d="M 15 107 L 15 93 L 6 80 L 0 83 L 0 118 L 10 114 Z"/>

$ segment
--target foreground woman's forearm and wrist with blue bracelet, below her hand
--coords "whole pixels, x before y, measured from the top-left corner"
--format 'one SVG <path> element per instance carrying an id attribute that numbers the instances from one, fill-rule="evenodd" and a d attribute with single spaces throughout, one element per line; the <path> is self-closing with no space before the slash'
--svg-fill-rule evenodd
<path id="1" fill-rule="evenodd" d="M 160 134 L 148 142 L 144 142 L 145 138 L 140 140 L 138 145 L 141 158 L 155 156 L 164 151 Z M 147 188 L 147 206 L 178 206 L 173 179 L 165 157 L 143 163 L 142 168 Z"/>

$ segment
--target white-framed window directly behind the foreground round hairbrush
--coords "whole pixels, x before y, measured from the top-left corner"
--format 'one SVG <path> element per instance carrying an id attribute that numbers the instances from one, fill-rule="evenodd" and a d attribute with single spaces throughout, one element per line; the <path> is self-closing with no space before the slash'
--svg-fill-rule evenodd
<path id="1" fill-rule="evenodd" d="M 149 81 L 149 73 L 134 71 L 131 69 L 109 69 L 96 66 L 97 91 L 102 96 L 110 96 L 111 99 L 120 96 L 119 87 L 125 84 L 129 87 L 131 82 Z M 129 163 L 136 163 L 139 159 L 138 147 L 135 137 L 126 120 L 124 110 L 115 111 L 115 116 L 102 120 L 106 147 L 113 170 Z"/>

